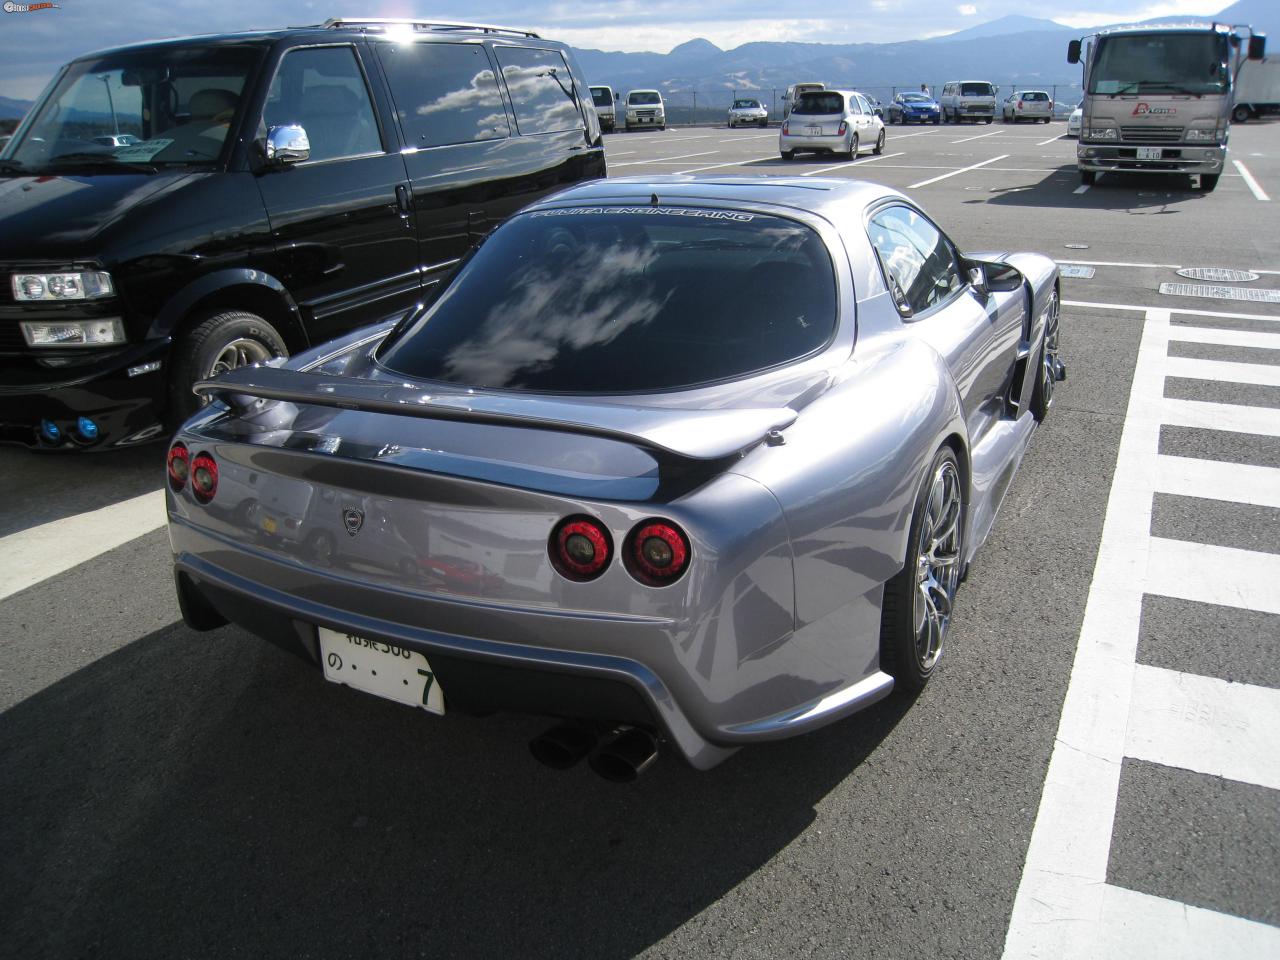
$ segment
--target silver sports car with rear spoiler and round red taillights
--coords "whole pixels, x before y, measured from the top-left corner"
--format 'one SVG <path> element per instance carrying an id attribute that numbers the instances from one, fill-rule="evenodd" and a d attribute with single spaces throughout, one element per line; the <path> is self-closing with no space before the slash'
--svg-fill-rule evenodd
<path id="1" fill-rule="evenodd" d="M 854 180 L 598 180 L 425 308 L 196 390 L 183 616 L 631 780 L 934 672 L 1062 379 L 1059 279 Z"/>

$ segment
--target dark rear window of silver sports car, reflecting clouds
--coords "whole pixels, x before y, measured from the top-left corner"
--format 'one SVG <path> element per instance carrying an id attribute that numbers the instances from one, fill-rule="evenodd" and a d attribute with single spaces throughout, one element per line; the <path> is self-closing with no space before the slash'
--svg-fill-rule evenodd
<path id="1" fill-rule="evenodd" d="M 820 349 L 836 278 L 804 224 L 735 210 L 522 214 L 379 352 L 425 380 L 646 393 L 746 376 Z"/>

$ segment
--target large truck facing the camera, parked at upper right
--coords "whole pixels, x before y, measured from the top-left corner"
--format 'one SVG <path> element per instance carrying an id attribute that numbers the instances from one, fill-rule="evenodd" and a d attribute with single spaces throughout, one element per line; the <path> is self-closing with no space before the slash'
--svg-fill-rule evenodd
<path id="1" fill-rule="evenodd" d="M 1206 193 L 1217 187 L 1236 73 L 1265 50 L 1266 37 L 1252 28 L 1221 23 L 1120 27 L 1073 40 L 1066 60 L 1084 64 L 1080 182 L 1107 172 L 1176 173 L 1198 174 Z"/>

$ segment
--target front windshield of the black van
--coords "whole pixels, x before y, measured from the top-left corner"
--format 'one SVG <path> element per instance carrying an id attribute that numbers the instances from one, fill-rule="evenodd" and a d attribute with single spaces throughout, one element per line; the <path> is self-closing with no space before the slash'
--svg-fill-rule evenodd
<path id="1" fill-rule="evenodd" d="M 261 52 L 166 45 L 77 60 L 4 156 L 22 173 L 218 164 Z"/>

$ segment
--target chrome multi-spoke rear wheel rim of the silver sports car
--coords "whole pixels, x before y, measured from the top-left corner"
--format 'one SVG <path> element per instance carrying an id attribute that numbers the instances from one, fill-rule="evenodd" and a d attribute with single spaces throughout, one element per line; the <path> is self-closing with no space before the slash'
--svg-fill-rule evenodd
<path id="1" fill-rule="evenodd" d="M 951 622 L 951 604 L 960 584 L 960 472 L 943 461 L 933 474 L 915 564 L 915 657 L 929 671 L 942 654 L 942 641 Z"/>

